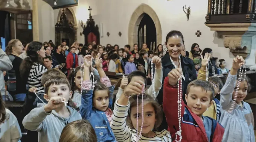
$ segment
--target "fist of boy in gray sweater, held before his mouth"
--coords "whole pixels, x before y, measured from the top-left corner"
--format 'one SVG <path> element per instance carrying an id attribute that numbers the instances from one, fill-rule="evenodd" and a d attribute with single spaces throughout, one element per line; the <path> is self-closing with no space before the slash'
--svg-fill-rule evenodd
<path id="1" fill-rule="evenodd" d="M 45 112 L 49 113 L 54 109 L 62 107 L 63 105 L 65 105 L 62 101 L 66 102 L 67 100 L 66 98 L 60 96 L 50 98 L 48 103 L 44 106 Z"/>

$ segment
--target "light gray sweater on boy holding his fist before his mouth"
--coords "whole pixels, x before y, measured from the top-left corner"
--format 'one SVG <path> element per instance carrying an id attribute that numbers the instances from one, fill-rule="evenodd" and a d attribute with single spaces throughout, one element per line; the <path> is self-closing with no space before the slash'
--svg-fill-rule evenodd
<path id="1" fill-rule="evenodd" d="M 58 142 L 62 129 L 70 122 L 81 120 L 82 117 L 72 107 L 67 106 L 70 111 L 68 118 L 62 118 L 52 110 L 52 113 L 46 113 L 44 106 L 35 108 L 27 114 L 22 124 L 30 131 L 38 131 L 38 142 Z"/>

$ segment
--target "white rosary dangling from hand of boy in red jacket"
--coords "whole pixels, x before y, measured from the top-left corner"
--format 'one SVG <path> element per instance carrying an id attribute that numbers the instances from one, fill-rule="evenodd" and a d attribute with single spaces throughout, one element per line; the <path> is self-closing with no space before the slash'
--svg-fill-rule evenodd
<path id="1" fill-rule="evenodd" d="M 179 120 L 179 130 L 175 133 L 175 141 L 181 142 L 181 102 L 182 102 L 182 79 L 178 79 L 178 120 Z M 177 134 L 180 136 L 180 139 L 177 141 Z"/>

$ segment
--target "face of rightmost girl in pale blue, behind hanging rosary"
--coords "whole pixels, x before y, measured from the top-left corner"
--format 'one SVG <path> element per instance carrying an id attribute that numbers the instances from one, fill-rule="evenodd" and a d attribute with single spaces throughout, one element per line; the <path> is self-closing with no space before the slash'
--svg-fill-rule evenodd
<path id="1" fill-rule="evenodd" d="M 236 86 L 237 86 L 237 80 L 236 80 Z M 247 90 L 248 90 L 248 84 L 246 81 L 241 81 L 240 86 L 239 86 L 239 90 L 238 90 L 238 96 L 236 98 L 236 103 L 240 104 L 242 100 L 244 100 L 244 98 L 247 95 Z M 234 99 L 235 97 L 235 92 L 236 92 L 236 87 L 234 88 L 233 94 L 232 94 L 232 99 Z"/>

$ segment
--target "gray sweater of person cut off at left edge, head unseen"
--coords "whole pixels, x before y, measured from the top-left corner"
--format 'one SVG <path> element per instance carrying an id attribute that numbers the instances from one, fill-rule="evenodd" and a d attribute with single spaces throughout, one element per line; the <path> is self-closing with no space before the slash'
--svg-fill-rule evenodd
<path id="1" fill-rule="evenodd" d="M 5 78 L 3 71 L 9 71 L 12 69 L 12 62 L 6 53 L 0 48 L 0 92 L 5 95 Z"/>

